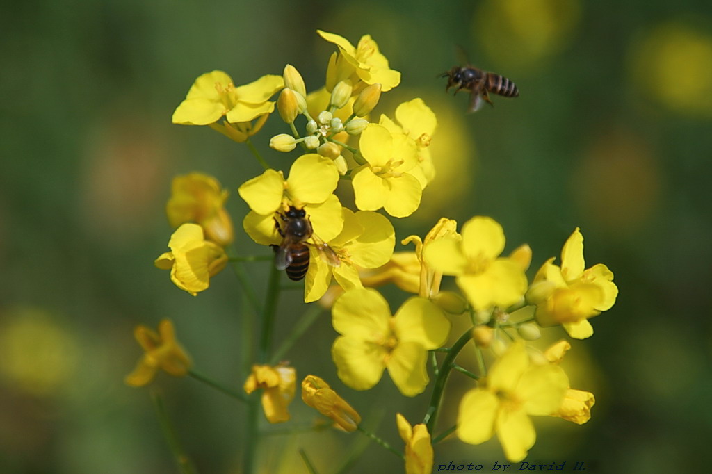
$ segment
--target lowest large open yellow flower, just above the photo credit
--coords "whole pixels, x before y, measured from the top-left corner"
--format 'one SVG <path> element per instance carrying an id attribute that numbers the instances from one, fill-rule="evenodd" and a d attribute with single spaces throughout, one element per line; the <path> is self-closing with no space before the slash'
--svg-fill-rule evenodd
<path id="1" fill-rule="evenodd" d="M 463 396 L 457 435 L 465 443 L 480 444 L 497 433 L 506 458 L 519 462 L 536 441 L 529 416 L 555 411 L 567 386 L 560 367 L 531 364 L 524 344 L 512 344 L 492 365 L 484 386 Z"/>

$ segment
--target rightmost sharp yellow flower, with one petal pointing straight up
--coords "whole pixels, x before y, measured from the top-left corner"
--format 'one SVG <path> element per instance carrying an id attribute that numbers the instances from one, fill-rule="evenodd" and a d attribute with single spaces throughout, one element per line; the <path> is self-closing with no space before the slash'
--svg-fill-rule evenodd
<path id="1" fill-rule="evenodd" d="M 588 318 L 613 306 L 618 288 L 613 273 L 601 263 L 585 268 L 583 236 L 579 228 L 567 239 L 561 251 L 561 267 L 547 260 L 534 277 L 527 300 L 537 306 L 540 325 L 561 324 L 575 339 L 593 335 Z"/>

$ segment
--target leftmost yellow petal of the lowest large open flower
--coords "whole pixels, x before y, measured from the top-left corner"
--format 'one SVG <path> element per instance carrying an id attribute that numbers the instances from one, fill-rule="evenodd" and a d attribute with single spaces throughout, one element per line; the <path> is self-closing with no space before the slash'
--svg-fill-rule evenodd
<path id="1" fill-rule="evenodd" d="M 465 443 L 480 444 L 494 434 L 494 423 L 500 408 L 491 391 L 473 389 L 460 401 L 457 414 L 457 436 Z"/>

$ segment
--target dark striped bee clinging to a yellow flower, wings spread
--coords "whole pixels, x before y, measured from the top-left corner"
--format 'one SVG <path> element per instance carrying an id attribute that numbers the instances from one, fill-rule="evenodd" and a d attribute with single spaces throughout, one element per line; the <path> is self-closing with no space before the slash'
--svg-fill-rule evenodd
<path id="1" fill-rule="evenodd" d="M 273 246 L 275 249 L 274 264 L 277 270 L 286 270 L 290 280 L 299 281 L 309 270 L 309 247 L 313 246 L 329 265 L 339 266 L 341 260 L 328 243 L 321 241 L 314 233 L 311 221 L 304 209 L 289 206 L 285 213 L 277 213 L 279 220 L 274 218 L 275 226 L 282 243 Z M 307 242 L 312 239 L 315 243 Z"/>

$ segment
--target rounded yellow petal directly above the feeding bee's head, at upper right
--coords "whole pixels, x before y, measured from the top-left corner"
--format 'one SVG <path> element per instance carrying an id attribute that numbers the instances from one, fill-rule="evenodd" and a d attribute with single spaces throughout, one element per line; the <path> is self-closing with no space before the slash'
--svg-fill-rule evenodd
<path id="1" fill-rule="evenodd" d="M 289 193 L 295 201 L 322 203 L 336 189 L 339 172 L 334 162 L 320 154 L 304 154 L 292 164 L 287 179 Z"/>

